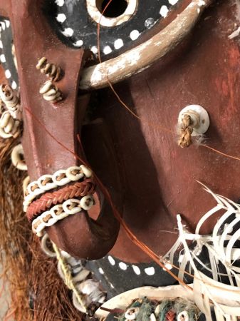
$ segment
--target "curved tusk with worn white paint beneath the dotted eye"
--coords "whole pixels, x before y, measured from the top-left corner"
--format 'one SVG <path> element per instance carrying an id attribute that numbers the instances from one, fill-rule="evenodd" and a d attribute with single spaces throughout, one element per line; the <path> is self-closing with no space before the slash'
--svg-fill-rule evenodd
<path id="1" fill-rule="evenodd" d="M 174 21 L 151 39 L 116 58 L 85 68 L 80 80 L 80 89 L 104 88 L 109 82 L 118 83 L 150 67 L 189 34 L 199 16 L 212 1 L 193 0 Z"/>

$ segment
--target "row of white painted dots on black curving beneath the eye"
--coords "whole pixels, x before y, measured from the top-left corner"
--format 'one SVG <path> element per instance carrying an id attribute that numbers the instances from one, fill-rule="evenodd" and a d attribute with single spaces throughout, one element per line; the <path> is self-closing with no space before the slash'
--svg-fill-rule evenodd
<path id="1" fill-rule="evenodd" d="M 179 0 L 168 0 L 169 4 L 171 4 L 172 6 L 174 6 L 174 4 L 177 4 L 178 1 L 179 1 Z M 57 4 L 58 6 L 63 6 L 63 4 L 64 4 L 64 0 L 56 0 L 55 2 L 56 2 L 56 4 Z M 168 11 L 169 11 L 169 9 L 167 8 L 166 5 L 161 6 L 160 16 L 162 16 L 163 18 L 166 18 L 167 14 L 168 14 Z M 56 20 L 57 20 L 58 22 L 60 22 L 61 24 L 63 24 L 63 22 L 66 21 L 66 19 L 67 19 L 67 17 L 66 17 L 65 14 L 58 14 L 58 16 L 56 17 Z M 152 19 L 152 18 L 146 19 L 145 23 L 146 23 L 147 20 L 149 20 L 149 19 Z M 155 22 L 154 22 L 153 24 L 155 24 Z M 153 25 L 153 24 L 152 24 L 152 25 Z M 73 36 L 73 33 L 74 33 L 74 31 L 73 31 L 72 28 L 66 28 L 66 29 L 64 29 L 64 30 L 62 31 L 63 36 L 66 36 L 66 37 L 71 37 L 71 36 Z M 135 29 L 135 30 L 132 30 L 132 31 L 130 32 L 130 35 L 129 35 L 129 36 L 130 36 L 130 39 L 131 39 L 132 41 L 135 41 L 135 40 L 137 40 L 137 38 L 140 36 L 140 32 L 139 32 L 138 30 L 136 30 L 136 29 Z M 76 47 L 83 46 L 83 40 L 78 40 L 78 41 L 76 41 L 73 45 L 76 46 Z M 116 39 L 116 40 L 114 41 L 114 45 L 113 45 L 113 46 L 114 46 L 115 49 L 118 50 L 118 49 L 122 48 L 122 46 L 124 46 L 124 43 L 123 43 L 122 39 Z M 98 54 L 98 48 L 97 48 L 97 46 L 92 46 L 92 48 L 91 48 L 90 50 L 93 52 L 93 54 Z M 113 51 L 113 49 L 111 49 L 110 46 L 105 46 L 105 47 L 103 48 L 103 54 L 105 54 L 105 55 L 110 54 L 112 51 Z"/>

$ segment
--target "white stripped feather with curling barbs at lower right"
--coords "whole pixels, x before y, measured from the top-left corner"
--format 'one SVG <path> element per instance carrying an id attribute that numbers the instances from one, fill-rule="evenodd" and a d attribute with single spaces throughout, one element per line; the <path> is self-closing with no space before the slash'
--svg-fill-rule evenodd
<path id="1" fill-rule="evenodd" d="M 184 250 L 179 255 L 178 276 L 183 280 L 189 263 L 189 270 L 194 271 L 194 301 L 206 315 L 207 321 L 212 321 L 213 312 L 218 321 L 236 320 L 240 315 L 240 248 L 236 248 L 236 243 L 240 240 L 240 205 L 213 193 L 205 185 L 203 187 L 216 200 L 216 206 L 202 216 L 195 233 L 189 233 L 182 225 L 181 216 L 177 215 L 179 238 L 171 250 L 175 253 L 182 243 Z M 214 225 L 212 235 L 201 235 L 199 231 L 202 225 L 220 210 L 224 213 Z M 192 244 L 189 240 L 192 240 Z M 199 255 L 203 247 L 208 255 L 205 262 L 202 262 Z M 167 254 L 172 259 L 171 250 Z M 219 262 L 226 272 L 219 268 Z M 210 272 L 212 277 L 208 277 L 200 269 Z M 227 277 L 229 285 L 221 282 L 222 277 L 225 280 Z"/>

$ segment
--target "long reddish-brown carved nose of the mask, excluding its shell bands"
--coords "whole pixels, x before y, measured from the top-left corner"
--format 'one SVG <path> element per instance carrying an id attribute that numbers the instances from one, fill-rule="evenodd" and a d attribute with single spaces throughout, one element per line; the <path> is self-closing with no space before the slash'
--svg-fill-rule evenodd
<path id="1" fill-rule="evenodd" d="M 88 97 L 83 96 L 76 110 L 84 51 L 70 49 L 58 41 L 42 14 L 42 3 L 39 0 L 11 0 L 14 10 L 10 19 L 24 109 L 22 144 L 31 180 L 79 165 L 77 154 L 84 159 L 77 134 L 81 127 L 78 121 L 83 118 L 88 104 Z M 36 69 L 38 58 L 43 56 L 63 71 L 63 77 L 56 82 L 63 100 L 57 103 L 47 101 L 39 93 L 47 80 L 46 75 Z M 103 201 L 97 220 L 82 210 L 59 220 L 48 228 L 48 233 L 59 248 L 71 255 L 97 259 L 113 247 L 118 230 L 119 224 L 110 205 Z"/>

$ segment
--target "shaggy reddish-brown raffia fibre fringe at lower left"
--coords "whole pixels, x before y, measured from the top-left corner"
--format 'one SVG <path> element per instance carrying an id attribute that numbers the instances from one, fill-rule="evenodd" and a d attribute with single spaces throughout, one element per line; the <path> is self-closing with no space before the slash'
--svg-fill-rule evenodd
<path id="1" fill-rule="evenodd" d="M 10 316 L 17 321 L 84 320 L 73 307 L 71 292 L 58 276 L 56 262 L 41 252 L 39 240 L 31 233 L 23 213 L 22 182 L 27 174 L 17 170 L 10 157 L 17 143 L 0 138 L 1 263 L 11 292 L 6 320 Z"/>

